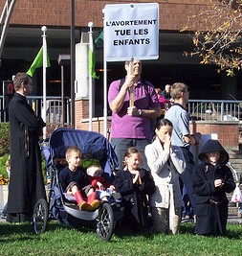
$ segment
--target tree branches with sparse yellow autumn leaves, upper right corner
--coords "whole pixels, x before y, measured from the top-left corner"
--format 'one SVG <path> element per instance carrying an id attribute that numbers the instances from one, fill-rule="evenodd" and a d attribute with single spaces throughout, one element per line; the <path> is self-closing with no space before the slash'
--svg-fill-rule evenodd
<path id="1" fill-rule="evenodd" d="M 242 0 L 210 0 L 207 9 L 188 17 L 183 31 L 196 29 L 192 36 L 194 51 L 203 64 L 216 64 L 233 76 L 242 68 Z"/>

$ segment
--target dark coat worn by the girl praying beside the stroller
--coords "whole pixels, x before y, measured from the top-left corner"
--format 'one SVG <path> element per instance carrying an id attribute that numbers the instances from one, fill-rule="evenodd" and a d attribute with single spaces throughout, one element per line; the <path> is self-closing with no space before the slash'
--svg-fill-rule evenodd
<path id="1" fill-rule="evenodd" d="M 147 225 L 147 196 L 155 191 L 155 183 L 150 172 L 141 169 L 142 185 L 133 184 L 133 176 L 129 171 L 119 171 L 115 176 L 114 186 L 121 193 L 125 207 L 125 215 L 132 215 L 142 225 Z"/>

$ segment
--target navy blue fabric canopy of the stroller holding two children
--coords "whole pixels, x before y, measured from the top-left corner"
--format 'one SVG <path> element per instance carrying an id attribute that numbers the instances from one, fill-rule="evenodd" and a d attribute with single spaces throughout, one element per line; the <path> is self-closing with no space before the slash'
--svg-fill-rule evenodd
<path id="1" fill-rule="evenodd" d="M 117 155 L 103 135 L 73 128 L 58 128 L 52 133 L 49 141 L 52 161 L 65 158 L 65 152 L 71 146 L 77 146 L 84 158 L 98 159 L 103 171 L 110 176 L 118 166 Z"/>

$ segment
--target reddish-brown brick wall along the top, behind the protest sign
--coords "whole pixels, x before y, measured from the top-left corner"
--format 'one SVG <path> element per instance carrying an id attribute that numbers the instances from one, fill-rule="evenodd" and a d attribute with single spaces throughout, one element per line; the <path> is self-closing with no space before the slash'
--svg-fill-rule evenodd
<path id="1" fill-rule="evenodd" d="M 0 0 L 1 10 L 5 2 L 5 0 Z M 77 27 L 87 27 L 89 21 L 93 21 L 95 27 L 102 27 L 102 10 L 106 4 L 127 4 L 127 1 L 76 0 L 75 2 Z M 147 1 L 133 2 L 145 3 Z M 211 4 L 209 0 L 160 0 L 156 2 L 160 4 L 160 30 L 169 31 L 180 31 L 187 23 L 187 16 L 206 10 Z M 11 24 L 70 27 L 71 1 L 18 0 L 11 16 Z"/>

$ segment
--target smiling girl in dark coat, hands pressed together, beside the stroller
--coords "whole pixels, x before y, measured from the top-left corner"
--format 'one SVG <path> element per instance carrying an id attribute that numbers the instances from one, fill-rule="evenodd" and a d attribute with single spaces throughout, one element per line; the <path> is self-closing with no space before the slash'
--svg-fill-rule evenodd
<path id="1" fill-rule="evenodd" d="M 123 223 L 138 228 L 148 224 L 147 196 L 155 191 L 155 183 L 149 171 L 140 169 L 141 153 L 135 147 L 124 155 L 124 169 L 117 172 L 114 186 L 121 193 L 124 204 Z"/>

